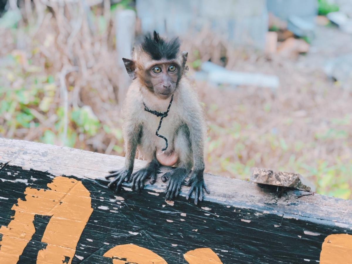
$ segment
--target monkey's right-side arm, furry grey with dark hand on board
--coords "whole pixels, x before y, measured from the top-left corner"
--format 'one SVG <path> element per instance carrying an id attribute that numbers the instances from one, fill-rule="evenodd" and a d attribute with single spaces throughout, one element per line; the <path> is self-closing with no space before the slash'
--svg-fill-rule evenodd
<path id="1" fill-rule="evenodd" d="M 191 173 L 187 186 L 190 190 L 186 199 L 188 200 L 194 191 L 194 203 L 197 204 L 198 200 L 202 201 L 204 197 L 203 189 L 209 194 L 209 190 L 205 185 L 203 172 L 204 172 L 204 138 L 205 138 L 205 121 L 200 107 L 190 109 L 186 124 L 189 129 L 189 139 L 193 153 L 194 168 Z"/>

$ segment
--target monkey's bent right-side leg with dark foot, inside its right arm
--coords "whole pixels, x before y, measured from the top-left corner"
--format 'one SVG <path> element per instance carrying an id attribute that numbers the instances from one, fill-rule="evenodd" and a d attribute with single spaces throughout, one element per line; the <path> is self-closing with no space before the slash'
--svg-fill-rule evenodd
<path id="1" fill-rule="evenodd" d="M 179 157 L 179 166 L 170 172 L 166 172 L 161 178 L 163 182 L 169 180 L 168 186 L 165 189 L 165 200 L 172 200 L 178 196 L 182 183 L 193 166 L 188 140 L 188 128 L 186 125 L 178 128 L 174 139 L 174 146 L 174 151 L 176 151 Z"/>

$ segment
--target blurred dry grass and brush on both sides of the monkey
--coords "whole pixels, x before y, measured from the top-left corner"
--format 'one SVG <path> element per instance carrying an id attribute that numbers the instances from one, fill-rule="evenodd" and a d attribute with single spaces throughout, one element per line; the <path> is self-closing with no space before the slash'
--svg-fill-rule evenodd
<path id="1" fill-rule="evenodd" d="M 124 155 L 109 8 L 39 1 L 0 29 L 0 136 Z M 208 120 L 206 169 L 248 178 L 253 166 L 300 172 L 318 192 L 351 198 L 351 92 L 298 61 L 234 49 L 204 30 L 185 38 L 189 75 L 211 59 L 276 74 L 276 93 L 195 82 Z M 43 102 L 47 102 L 44 104 Z"/>

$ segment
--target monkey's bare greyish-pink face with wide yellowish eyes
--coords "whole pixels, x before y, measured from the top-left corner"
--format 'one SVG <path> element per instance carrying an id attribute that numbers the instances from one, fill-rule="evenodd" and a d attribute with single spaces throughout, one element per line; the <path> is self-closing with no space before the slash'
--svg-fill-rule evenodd
<path id="1" fill-rule="evenodd" d="M 158 98 L 168 99 L 176 89 L 179 73 L 176 62 L 157 63 L 146 70 L 145 83 Z"/>

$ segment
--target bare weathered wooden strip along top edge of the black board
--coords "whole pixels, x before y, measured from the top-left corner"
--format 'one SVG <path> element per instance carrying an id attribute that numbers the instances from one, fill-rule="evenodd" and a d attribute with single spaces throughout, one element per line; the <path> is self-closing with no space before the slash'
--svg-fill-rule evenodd
<path id="1" fill-rule="evenodd" d="M 24 169 L 102 181 L 106 181 L 103 177 L 108 174 L 108 170 L 121 168 L 124 164 L 124 158 L 119 156 L 0 138 L 0 162 L 9 161 L 9 165 L 21 166 Z M 136 160 L 134 171 L 145 164 L 144 161 Z M 147 184 L 145 189 L 163 191 L 166 184 L 161 181 L 160 175 L 170 169 L 163 167 L 156 183 Z M 210 195 L 205 197 L 206 201 L 255 209 L 261 213 L 282 215 L 287 218 L 309 218 L 309 221 L 324 221 L 332 226 L 344 226 L 347 230 L 352 230 L 352 200 L 318 194 L 296 199 L 296 196 L 304 194 L 298 190 L 288 190 L 279 198 L 276 188 L 273 190 L 251 182 L 210 174 L 205 174 L 205 181 L 210 190 Z M 129 187 L 130 184 L 124 183 L 124 186 Z M 180 195 L 186 196 L 188 189 L 183 186 Z"/>

